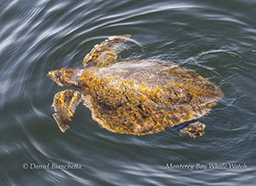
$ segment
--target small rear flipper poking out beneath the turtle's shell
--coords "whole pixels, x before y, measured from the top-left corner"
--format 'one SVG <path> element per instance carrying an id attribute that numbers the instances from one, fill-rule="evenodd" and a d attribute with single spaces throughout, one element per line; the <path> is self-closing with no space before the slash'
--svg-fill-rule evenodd
<path id="1" fill-rule="evenodd" d="M 204 135 L 204 128 L 205 124 L 196 121 L 193 123 L 190 123 L 187 127 L 183 127 L 180 129 L 181 135 L 182 134 L 189 134 L 192 138 L 197 138 L 202 135 Z"/>

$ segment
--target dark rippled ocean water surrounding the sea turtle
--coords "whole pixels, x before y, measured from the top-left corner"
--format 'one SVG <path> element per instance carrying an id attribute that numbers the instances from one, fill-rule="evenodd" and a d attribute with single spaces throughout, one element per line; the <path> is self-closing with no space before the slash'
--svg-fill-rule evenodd
<path id="1" fill-rule="evenodd" d="M 255 10 L 255 0 L 0 0 L 0 185 L 256 185 Z M 82 105 L 59 131 L 51 106 L 64 88 L 47 72 L 81 68 L 121 34 L 132 35 L 121 58 L 170 60 L 223 90 L 203 137 L 110 133 Z"/>

